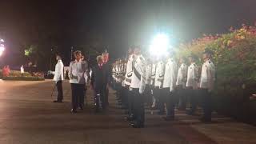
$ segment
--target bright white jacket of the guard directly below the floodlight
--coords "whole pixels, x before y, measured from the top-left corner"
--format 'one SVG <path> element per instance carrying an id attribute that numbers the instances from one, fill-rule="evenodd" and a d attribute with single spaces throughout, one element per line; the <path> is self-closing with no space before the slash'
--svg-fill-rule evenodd
<path id="1" fill-rule="evenodd" d="M 159 61 L 155 70 L 154 86 L 162 88 L 162 81 L 165 74 L 165 64 Z"/>

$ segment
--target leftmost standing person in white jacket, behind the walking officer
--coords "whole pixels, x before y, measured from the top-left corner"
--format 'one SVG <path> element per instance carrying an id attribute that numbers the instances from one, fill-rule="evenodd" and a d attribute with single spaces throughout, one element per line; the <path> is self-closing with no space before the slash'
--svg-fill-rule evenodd
<path id="1" fill-rule="evenodd" d="M 55 71 L 52 71 L 51 74 L 54 74 L 54 81 L 58 89 L 58 97 L 54 102 L 62 102 L 63 100 L 63 90 L 62 90 L 62 81 L 64 80 L 64 65 L 62 62 L 62 57 L 57 54 L 56 60 L 58 61 L 55 66 Z"/>

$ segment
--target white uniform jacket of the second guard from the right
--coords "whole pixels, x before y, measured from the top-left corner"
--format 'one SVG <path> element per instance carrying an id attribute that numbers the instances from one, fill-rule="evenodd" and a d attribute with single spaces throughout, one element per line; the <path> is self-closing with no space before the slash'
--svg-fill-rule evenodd
<path id="1" fill-rule="evenodd" d="M 198 66 L 194 62 L 190 64 L 187 70 L 186 86 L 193 87 L 193 89 L 198 86 Z"/>

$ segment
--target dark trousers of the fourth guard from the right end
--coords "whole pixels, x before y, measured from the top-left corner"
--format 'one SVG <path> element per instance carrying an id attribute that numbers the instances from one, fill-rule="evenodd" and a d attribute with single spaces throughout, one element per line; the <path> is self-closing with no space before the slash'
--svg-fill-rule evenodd
<path id="1" fill-rule="evenodd" d="M 174 109 L 177 102 L 177 96 L 174 92 L 170 92 L 170 88 L 164 88 L 163 95 L 166 99 L 166 117 L 174 118 Z"/>

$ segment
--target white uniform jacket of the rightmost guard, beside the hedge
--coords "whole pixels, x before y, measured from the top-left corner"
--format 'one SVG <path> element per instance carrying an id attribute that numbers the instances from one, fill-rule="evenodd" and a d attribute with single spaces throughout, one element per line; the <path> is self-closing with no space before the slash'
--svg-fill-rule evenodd
<path id="1" fill-rule="evenodd" d="M 202 89 L 213 90 L 215 81 L 215 66 L 214 63 L 209 60 L 203 63 L 202 73 L 199 82 L 199 87 Z"/>

